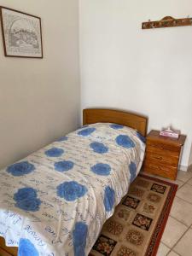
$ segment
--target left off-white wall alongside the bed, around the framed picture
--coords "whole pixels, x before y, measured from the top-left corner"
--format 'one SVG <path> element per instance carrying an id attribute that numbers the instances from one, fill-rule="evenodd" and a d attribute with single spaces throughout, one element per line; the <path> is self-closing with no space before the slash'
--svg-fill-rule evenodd
<path id="1" fill-rule="evenodd" d="M 42 18 L 44 59 L 4 57 L 0 33 L 0 167 L 79 125 L 78 0 L 0 0 Z"/>

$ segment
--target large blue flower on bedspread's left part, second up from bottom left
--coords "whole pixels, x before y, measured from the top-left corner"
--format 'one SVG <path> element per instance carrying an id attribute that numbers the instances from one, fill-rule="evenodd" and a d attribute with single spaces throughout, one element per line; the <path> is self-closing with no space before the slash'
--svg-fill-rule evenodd
<path id="1" fill-rule="evenodd" d="M 36 189 L 19 189 L 14 195 L 14 200 L 16 201 L 15 207 L 18 207 L 24 211 L 37 212 L 39 210 L 39 206 L 41 205 L 41 201 L 37 198 L 37 196 L 38 194 Z"/>

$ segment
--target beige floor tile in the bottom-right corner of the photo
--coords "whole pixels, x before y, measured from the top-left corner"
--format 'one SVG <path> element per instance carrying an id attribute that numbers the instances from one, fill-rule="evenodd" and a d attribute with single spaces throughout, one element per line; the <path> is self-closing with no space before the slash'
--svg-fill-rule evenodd
<path id="1" fill-rule="evenodd" d="M 176 247 L 173 247 L 173 251 L 179 253 L 182 256 L 192 255 L 192 230 L 189 229 L 182 239 L 178 241 Z"/>

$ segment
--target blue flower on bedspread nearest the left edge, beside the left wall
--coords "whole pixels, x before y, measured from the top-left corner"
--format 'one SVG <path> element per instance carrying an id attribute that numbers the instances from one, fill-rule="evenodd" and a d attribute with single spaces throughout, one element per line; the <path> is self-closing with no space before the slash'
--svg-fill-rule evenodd
<path id="1" fill-rule="evenodd" d="M 13 176 L 23 176 L 29 174 L 35 170 L 33 166 L 28 161 L 22 161 L 20 163 L 15 163 L 7 168 L 7 172 L 11 173 Z"/>

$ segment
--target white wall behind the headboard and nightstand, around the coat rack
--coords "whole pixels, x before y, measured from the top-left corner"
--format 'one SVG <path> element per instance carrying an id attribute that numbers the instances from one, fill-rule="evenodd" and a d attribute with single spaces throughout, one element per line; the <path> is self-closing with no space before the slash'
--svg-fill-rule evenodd
<path id="1" fill-rule="evenodd" d="M 172 124 L 192 140 L 192 26 L 142 30 L 143 21 L 192 16 L 191 0 L 81 0 L 82 108 L 148 115 L 148 131 Z"/>

